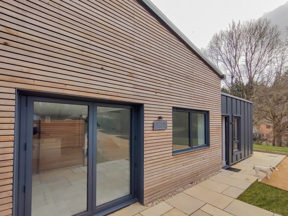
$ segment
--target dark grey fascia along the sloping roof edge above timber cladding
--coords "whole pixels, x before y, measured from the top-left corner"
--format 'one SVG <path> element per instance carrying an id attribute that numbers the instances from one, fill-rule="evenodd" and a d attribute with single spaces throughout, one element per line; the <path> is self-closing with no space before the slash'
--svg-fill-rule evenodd
<path id="1" fill-rule="evenodd" d="M 221 80 L 226 76 L 213 64 L 150 0 L 138 0 L 149 12 L 151 12 L 167 29 L 184 43 L 192 52 L 202 59 Z"/>

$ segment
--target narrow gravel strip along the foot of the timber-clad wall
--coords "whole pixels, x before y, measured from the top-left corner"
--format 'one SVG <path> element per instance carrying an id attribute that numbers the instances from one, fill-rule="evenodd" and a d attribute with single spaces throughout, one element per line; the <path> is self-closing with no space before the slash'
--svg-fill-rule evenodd
<path id="1" fill-rule="evenodd" d="M 172 191 L 171 193 L 169 193 L 169 194 L 167 194 L 167 195 L 165 195 L 163 197 L 160 197 L 157 200 L 154 200 L 154 201 L 146 204 L 145 206 L 148 207 L 148 208 L 151 208 L 151 207 L 153 207 L 153 206 L 155 206 L 155 205 L 157 205 L 157 204 L 159 204 L 159 203 L 161 203 L 161 202 L 163 202 L 165 200 L 168 200 L 171 197 L 174 197 L 176 194 L 179 194 L 179 193 L 183 192 L 184 190 L 187 190 L 188 188 L 193 187 L 194 185 L 199 184 L 202 181 L 205 181 L 206 179 L 208 179 L 208 178 L 210 178 L 210 177 L 212 177 L 212 176 L 214 176 L 214 175 L 216 175 L 218 173 L 221 173 L 221 172 L 217 171 L 215 173 L 211 173 L 209 175 L 206 175 L 205 177 L 200 178 L 200 179 L 198 179 L 196 181 L 193 181 L 193 182 L 191 182 L 189 184 L 186 184 L 185 186 L 180 187 L 179 189 L 177 189 L 175 191 Z"/>

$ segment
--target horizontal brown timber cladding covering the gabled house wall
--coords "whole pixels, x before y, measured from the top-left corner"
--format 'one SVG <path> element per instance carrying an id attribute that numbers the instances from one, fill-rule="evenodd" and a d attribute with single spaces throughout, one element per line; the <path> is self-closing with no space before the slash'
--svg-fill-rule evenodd
<path id="1" fill-rule="evenodd" d="M 143 103 L 145 204 L 220 168 L 220 78 L 138 1 L 0 0 L 0 19 L 0 215 L 16 88 Z M 209 148 L 172 154 L 173 107 L 209 111 Z"/>

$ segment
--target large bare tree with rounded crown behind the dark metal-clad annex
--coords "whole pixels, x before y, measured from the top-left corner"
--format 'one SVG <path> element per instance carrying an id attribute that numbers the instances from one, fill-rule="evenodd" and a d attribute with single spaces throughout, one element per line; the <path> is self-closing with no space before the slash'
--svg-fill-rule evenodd
<path id="1" fill-rule="evenodd" d="M 273 79 L 275 58 L 279 55 L 281 31 L 267 19 L 232 24 L 216 33 L 204 53 L 226 73 L 225 81 L 231 94 L 237 78 L 243 88 L 242 97 L 253 100 L 254 86 Z M 270 80 L 269 80 L 270 82 Z"/>

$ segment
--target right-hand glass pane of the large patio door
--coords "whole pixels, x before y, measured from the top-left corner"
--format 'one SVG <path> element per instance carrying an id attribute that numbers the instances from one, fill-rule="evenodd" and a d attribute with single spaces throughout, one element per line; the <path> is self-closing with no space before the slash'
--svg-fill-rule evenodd
<path id="1" fill-rule="evenodd" d="M 130 109 L 97 107 L 97 206 L 130 194 L 130 127 Z"/>

